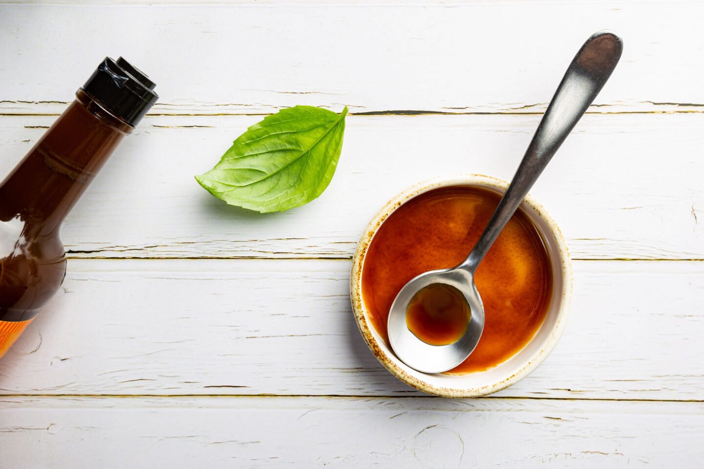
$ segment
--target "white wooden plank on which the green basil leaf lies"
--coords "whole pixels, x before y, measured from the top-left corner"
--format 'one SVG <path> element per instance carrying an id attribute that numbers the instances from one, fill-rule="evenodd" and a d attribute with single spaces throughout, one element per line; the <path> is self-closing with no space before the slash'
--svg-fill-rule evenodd
<path id="1" fill-rule="evenodd" d="M 0 117 L 0 174 L 54 117 Z M 539 116 L 348 117 L 337 174 L 313 203 L 260 215 L 194 174 L 259 117 L 148 117 L 62 230 L 73 257 L 344 257 L 403 188 L 474 172 L 510 179 Z M 702 115 L 589 115 L 532 191 L 577 259 L 703 259 Z M 109 210 L 106 210 L 109 207 Z"/>

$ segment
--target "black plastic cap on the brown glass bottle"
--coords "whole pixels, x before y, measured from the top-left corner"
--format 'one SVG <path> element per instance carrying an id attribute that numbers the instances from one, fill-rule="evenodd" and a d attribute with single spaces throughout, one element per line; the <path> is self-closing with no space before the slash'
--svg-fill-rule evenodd
<path id="1" fill-rule="evenodd" d="M 106 57 L 82 90 L 116 117 L 136 127 L 159 98 L 149 77 L 124 58 Z"/>

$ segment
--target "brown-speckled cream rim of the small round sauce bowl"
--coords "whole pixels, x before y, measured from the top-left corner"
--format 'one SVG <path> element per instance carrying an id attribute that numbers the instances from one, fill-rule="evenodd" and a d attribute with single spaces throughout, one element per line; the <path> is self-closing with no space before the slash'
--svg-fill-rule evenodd
<path id="1" fill-rule="evenodd" d="M 375 338 L 375 335 L 372 332 L 374 326 L 371 325 L 368 319 L 367 309 L 362 298 L 362 271 L 364 260 L 372 238 L 374 238 L 375 234 L 379 230 L 379 227 L 382 223 L 384 223 L 384 221 L 386 221 L 389 215 L 394 213 L 398 207 L 403 205 L 403 203 L 408 202 L 408 200 L 414 198 L 415 196 L 431 191 L 434 188 L 446 186 L 488 186 L 498 188 L 503 193 L 503 191 L 508 188 L 508 182 L 497 179 L 493 176 L 485 176 L 484 174 L 455 174 L 452 176 L 439 176 L 433 179 L 428 179 L 427 181 L 422 181 L 394 195 L 394 197 L 384 204 L 377 214 L 372 217 L 362 236 L 360 236 L 359 242 L 357 243 L 352 259 L 350 274 L 350 298 L 355 321 L 362 337 L 367 343 L 367 346 L 377 357 L 379 362 L 384 365 L 384 367 L 389 370 L 391 374 L 395 375 L 396 378 L 412 387 L 415 387 L 417 390 L 427 392 L 428 394 L 435 394 L 436 396 L 460 398 L 480 397 L 503 390 L 506 387 L 522 380 L 522 378 L 525 378 L 527 375 L 532 373 L 532 371 L 534 371 L 534 369 L 537 368 L 555 348 L 555 345 L 557 345 L 557 342 L 560 340 L 562 332 L 565 330 L 565 324 L 567 323 L 567 316 L 569 316 L 572 302 L 572 259 L 570 258 L 570 251 L 567 249 L 565 238 L 562 236 L 562 232 L 555 223 L 555 220 L 553 220 L 548 212 L 546 212 L 545 208 L 539 204 L 532 195 L 526 195 L 523 200 L 524 203 L 527 203 L 527 205 L 529 205 L 536 212 L 536 214 L 538 214 L 538 216 L 545 221 L 546 225 L 550 229 L 550 234 L 555 239 L 555 245 L 557 245 L 558 252 L 560 253 L 560 263 L 562 264 L 562 302 L 560 303 L 560 309 L 558 309 L 557 312 L 555 326 L 553 327 L 546 344 L 541 347 L 539 352 L 533 354 L 517 372 L 510 375 L 510 377 L 482 387 L 439 387 L 431 383 L 427 383 L 427 381 L 419 378 L 417 375 L 408 373 L 406 370 L 401 368 L 398 363 L 396 363 L 397 361 L 400 362 L 396 356 L 390 356 L 386 353 L 382 346 L 379 345 L 377 338 Z M 544 234 L 546 233 L 543 233 L 543 235 Z M 412 371 L 419 375 L 426 374 L 420 371 Z"/>

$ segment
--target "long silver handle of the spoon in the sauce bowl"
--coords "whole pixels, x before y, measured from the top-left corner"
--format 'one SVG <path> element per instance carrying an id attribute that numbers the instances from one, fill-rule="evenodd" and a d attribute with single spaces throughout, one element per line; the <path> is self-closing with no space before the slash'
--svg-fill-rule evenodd
<path id="1" fill-rule="evenodd" d="M 501 198 L 479 241 L 460 268 L 472 273 L 494 244 L 498 234 L 532 188 L 538 176 L 570 134 L 579 118 L 611 76 L 623 50 L 621 38 L 609 31 L 596 32 L 579 49 L 555 91 L 513 181 Z"/>

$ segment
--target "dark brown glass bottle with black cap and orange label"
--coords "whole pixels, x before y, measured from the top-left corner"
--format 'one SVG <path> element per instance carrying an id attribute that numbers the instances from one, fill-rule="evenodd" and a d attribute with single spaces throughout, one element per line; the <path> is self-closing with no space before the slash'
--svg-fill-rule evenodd
<path id="1" fill-rule="evenodd" d="M 106 58 L 0 184 L 0 357 L 61 287 L 61 222 L 156 102 L 154 84 Z"/>

